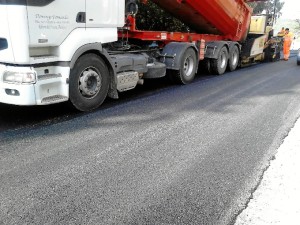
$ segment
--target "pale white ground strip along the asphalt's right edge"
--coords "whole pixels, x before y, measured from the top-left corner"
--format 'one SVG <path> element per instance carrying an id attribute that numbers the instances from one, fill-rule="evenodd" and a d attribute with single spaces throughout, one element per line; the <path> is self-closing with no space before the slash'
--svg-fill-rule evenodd
<path id="1" fill-rule="evenodd" d="M 278 153 L 235 225 L 296 225 L 300 221 L 300 120 Z"/>

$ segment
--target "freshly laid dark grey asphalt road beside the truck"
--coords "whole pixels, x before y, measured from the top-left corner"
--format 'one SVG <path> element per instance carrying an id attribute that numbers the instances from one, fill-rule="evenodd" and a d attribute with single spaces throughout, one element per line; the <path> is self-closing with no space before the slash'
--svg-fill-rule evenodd
<path id="1" fill-rule="evenodd" d="M 300 116 L 300 67 L 40 110 L 0 106 L 0 224 L 227 225 Z"/>

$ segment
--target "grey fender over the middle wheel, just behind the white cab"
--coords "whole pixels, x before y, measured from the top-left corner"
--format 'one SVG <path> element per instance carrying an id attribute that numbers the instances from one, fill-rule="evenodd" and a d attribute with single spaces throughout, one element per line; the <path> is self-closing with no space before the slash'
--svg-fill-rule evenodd
<path id="1" fill-rule="evenodd" d="M 197 61 L 199 61 L 198 49 L 193 43 L 171 42 L 167 44 L 160 58 L 160 61 L 166 64 L 167 69 L 179 70 L 182 55 L 188 48 L 193 48 L 196 52 Z M 198 70 L 198 64 L 196 71 Z"/>

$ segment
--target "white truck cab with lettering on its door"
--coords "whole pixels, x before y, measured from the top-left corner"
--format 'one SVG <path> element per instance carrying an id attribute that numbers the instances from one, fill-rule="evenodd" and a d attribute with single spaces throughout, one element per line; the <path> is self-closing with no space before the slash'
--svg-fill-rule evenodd
<path id="1" fill-rule="evenodd" d="M 45 105 L 67 101 L 70 94 L 73 103 L 82 96 L 94 101 L 109 82 L 101 76 L 109 68 L 93 52 L 117 41 L 124 11 L 120 0 L 1 0 L 0 102 Z M 100 68 L 78 63 L 88 56 Z M 71 91 L 72 70 L 80 74 L 73 78 L 79 87 Z"/>

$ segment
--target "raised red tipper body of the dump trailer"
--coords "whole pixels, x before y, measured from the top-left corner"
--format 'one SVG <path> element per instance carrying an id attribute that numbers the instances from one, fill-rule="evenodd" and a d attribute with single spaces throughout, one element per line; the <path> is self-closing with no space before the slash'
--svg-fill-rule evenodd
<path id="1" fill-rule="evenodd" d="M 247 36 L 252 9 L 244 0 L 151 0 L 192 30 L 231 41 Z"/>

